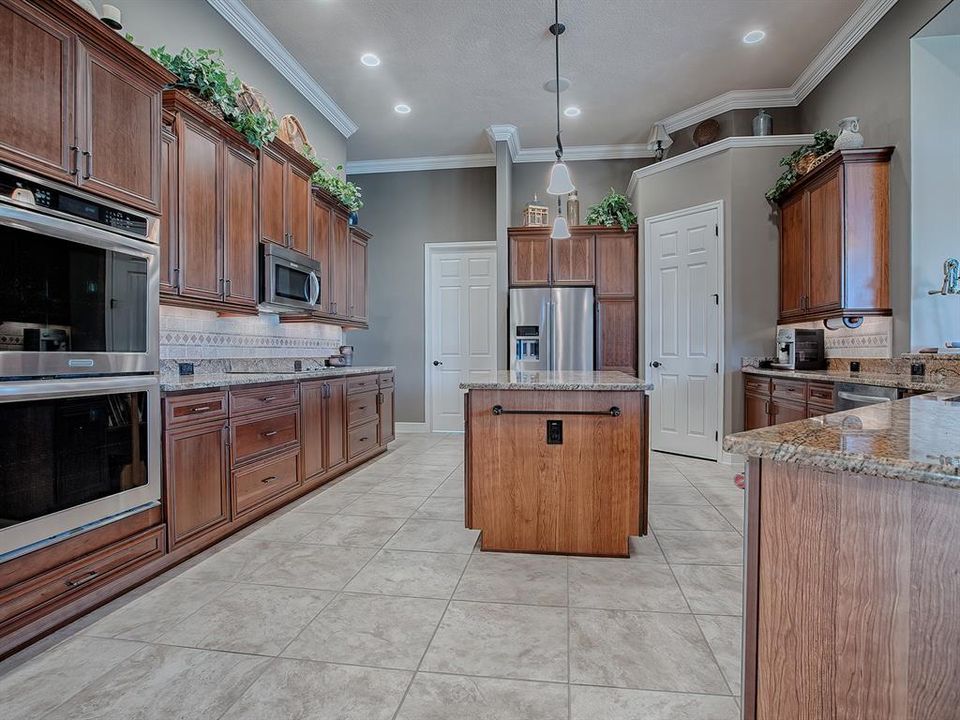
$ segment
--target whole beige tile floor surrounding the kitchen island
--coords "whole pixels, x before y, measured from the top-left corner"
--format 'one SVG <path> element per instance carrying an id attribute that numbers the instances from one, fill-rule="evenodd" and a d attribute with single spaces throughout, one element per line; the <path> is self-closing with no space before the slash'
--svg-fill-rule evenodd
<path id="1" fill-rule="evenodd" d="M 0 663 L 5 720 L 735 720 L 743 497 L 654 454 L 628 560 L 499 555 L 462 438 L 380 459 Z"/>

